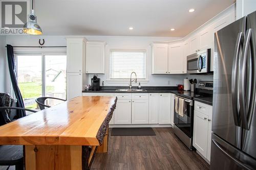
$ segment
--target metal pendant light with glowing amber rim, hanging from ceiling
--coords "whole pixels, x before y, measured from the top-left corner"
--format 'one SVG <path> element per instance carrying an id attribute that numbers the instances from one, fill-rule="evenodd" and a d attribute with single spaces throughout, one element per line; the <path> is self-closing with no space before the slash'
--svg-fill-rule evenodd
<path id="1" fill-rule="evenodd" d="M 28 22 L 24 25 L 23 30 L 26 34 L 30 34 L 30 35 L 41 35 L 42 34 L 42 30 L 41 30 L 40 26 L 37 24 L 37 19 L 35 16 L 34 0 L 32 0 L 31 14 L 29 15 Z"/>

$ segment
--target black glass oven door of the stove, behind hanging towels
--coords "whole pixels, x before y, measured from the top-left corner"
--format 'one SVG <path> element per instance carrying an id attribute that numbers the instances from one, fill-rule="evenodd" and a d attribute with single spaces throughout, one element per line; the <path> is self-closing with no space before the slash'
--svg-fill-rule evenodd
<path id="1" fill-rule="evenodd" d="M 177 95 L 176 95 L 177 96 Z M 177 96 L 181 98 L 180 96 Z M 182 98 L 185 99 L 185 98 Z M 176 112 L 176 101 L 174 100 L 174 124 L 188 137 L 193 136 L 194 103 L 193 100 L 185 99 L 185 110 L 183 116 Z"/>

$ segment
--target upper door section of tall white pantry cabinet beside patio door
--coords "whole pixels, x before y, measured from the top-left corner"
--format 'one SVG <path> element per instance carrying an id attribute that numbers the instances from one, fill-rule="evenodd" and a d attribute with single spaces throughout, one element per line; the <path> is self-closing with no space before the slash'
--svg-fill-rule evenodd
<path id="1" fill-rule="evenodd" d="M 85 72 L 86 39 L 83 37 L 66 37 L 67 72 Z"/>

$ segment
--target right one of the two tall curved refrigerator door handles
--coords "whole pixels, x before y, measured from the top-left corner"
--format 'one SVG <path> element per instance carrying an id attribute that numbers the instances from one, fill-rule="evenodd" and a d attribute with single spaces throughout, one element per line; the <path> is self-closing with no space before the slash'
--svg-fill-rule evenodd
<path id="1" fill-rule="evenodd" d="M 241 112 L 242 128 L 244 128 L 246 130 L 250 129 L 249 125 L 250 125 L 251 117 L 252 117 L 251 114 L 253 114 L 253 113 L 250 113 L 250 115 L 248 115 L 247 108 L 246 108 L 246 99 L 245 99 L 246 98 L 246 85 L 245 85 L 246 61 L 247 61 L 247 57 L 248 57 L 248 49 L 250 47 L 251 34 L 252 34 L 252 29 L 248 29 L 245 34 L 245 43 L 243 45 L 243 50 L 242 50 L 243 53 L 242 53 L 242 57 L 241 57 L 241 61 L 240 61 L 240 70 L 239 70 L 239 74 L 240 74 L 239 84 L 241 85 L 241 87 L 239 89 L 240 112 Z M 254 67 L 254 66 L 252 66 L 252 67 Z M 253 70 L 255 71 L 255 68 L 253 68 Z M 255 72 L 252 72 L 252 74 L 253 74 L 252 76 L 254 76 Z M 255 81 L 255 78 L 253 78 L 252 85 L 254 84 L 253 83 L 254 81 Z M 255 91 L 253 86 L 252 86 L 252 91 Z M 252 94 L 252 97 L 253 96 L 255 97 L 255 94 Z M 251 100 L 251 101 L 253 101 L 253 100 Z M 249 112 L 250 112 L 250 110 L 251 110 L 251 108 L 249 108 Z"/>

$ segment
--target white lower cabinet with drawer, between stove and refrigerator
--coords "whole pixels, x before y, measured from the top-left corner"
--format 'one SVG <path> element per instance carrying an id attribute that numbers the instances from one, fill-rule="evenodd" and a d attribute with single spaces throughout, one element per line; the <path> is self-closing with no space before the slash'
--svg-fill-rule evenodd
<path id="1" fill-rule="evenodd" d="M 212 106 L 195 101 L 193 146 L 208 161 L 211 147 Z"/>

